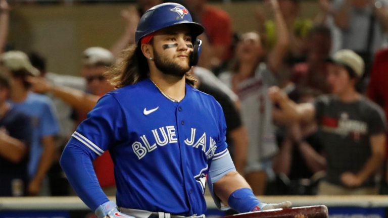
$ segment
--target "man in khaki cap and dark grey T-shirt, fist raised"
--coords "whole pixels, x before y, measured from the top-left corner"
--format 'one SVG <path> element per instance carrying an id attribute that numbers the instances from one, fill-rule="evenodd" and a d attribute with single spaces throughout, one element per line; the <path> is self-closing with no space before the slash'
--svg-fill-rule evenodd
<path id="1" fill-rule="evenodd" d="M 289 121 L 317 121 L 325 157 L 310 151 L 310 160 L 326 168 L 318 194 L 377 194 L 374 175 L 385 153 L 386 124 L 381 108 L 355 88 L 364 62 L 354 51 L 339 50 L 328 59 L 330 95 L 296 104 L 278 87 L 269 95 Z"/>

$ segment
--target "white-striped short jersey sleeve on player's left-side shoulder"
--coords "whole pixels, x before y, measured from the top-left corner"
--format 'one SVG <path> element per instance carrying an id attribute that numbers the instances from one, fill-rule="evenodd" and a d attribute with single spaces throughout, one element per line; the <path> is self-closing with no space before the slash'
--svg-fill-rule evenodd
<path id="1" fill-rule="evenodd" d="M 73 133 L 71 141 L 86 147 L 95 158 L 121 139 L 124 122 L 120 104 L 113 95 L 107 94 L 87 114 L 86 120 Z"/>

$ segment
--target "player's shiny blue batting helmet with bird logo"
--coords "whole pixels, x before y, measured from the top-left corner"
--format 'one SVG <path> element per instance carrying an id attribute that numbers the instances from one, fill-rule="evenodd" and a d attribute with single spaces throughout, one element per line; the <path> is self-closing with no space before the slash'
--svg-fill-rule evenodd
<path id="1" fill-rule="evenodd" d="M 189 25 L 194 37 L 197 37 L 205 30 L 201 24 L 192 22 L 190 13 L 182 5 L 164 3 L 152 7 L 141 16 L 136 28 L 135 42 L 138 44 L 142 37 L 178 24 Z"/>

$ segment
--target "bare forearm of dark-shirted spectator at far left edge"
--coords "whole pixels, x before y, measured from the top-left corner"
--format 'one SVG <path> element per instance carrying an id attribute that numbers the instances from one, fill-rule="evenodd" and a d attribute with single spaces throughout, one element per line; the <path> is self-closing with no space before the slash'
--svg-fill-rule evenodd
<path id="1" fill-rule="evenodd" d="M 27 148 L 22 141 L 8 135 L 0 137 L 0 156 L 17 163 L 26 154 L 26 151 Z"/>

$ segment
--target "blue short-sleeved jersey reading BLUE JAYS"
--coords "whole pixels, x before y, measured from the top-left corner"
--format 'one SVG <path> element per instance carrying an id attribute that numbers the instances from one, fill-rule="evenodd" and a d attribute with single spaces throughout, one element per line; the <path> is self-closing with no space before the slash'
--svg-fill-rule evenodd
<path id="1" fill-rule="evenodd" d="M 212 160 L 228 153 L 222 108 L 186 84 L 180 102 L 166 98 L 150 79 L 103 96 L 69 144 L 91 158 L 109 150 L 117 205 L 177 215 L 203 214 Z"/>

